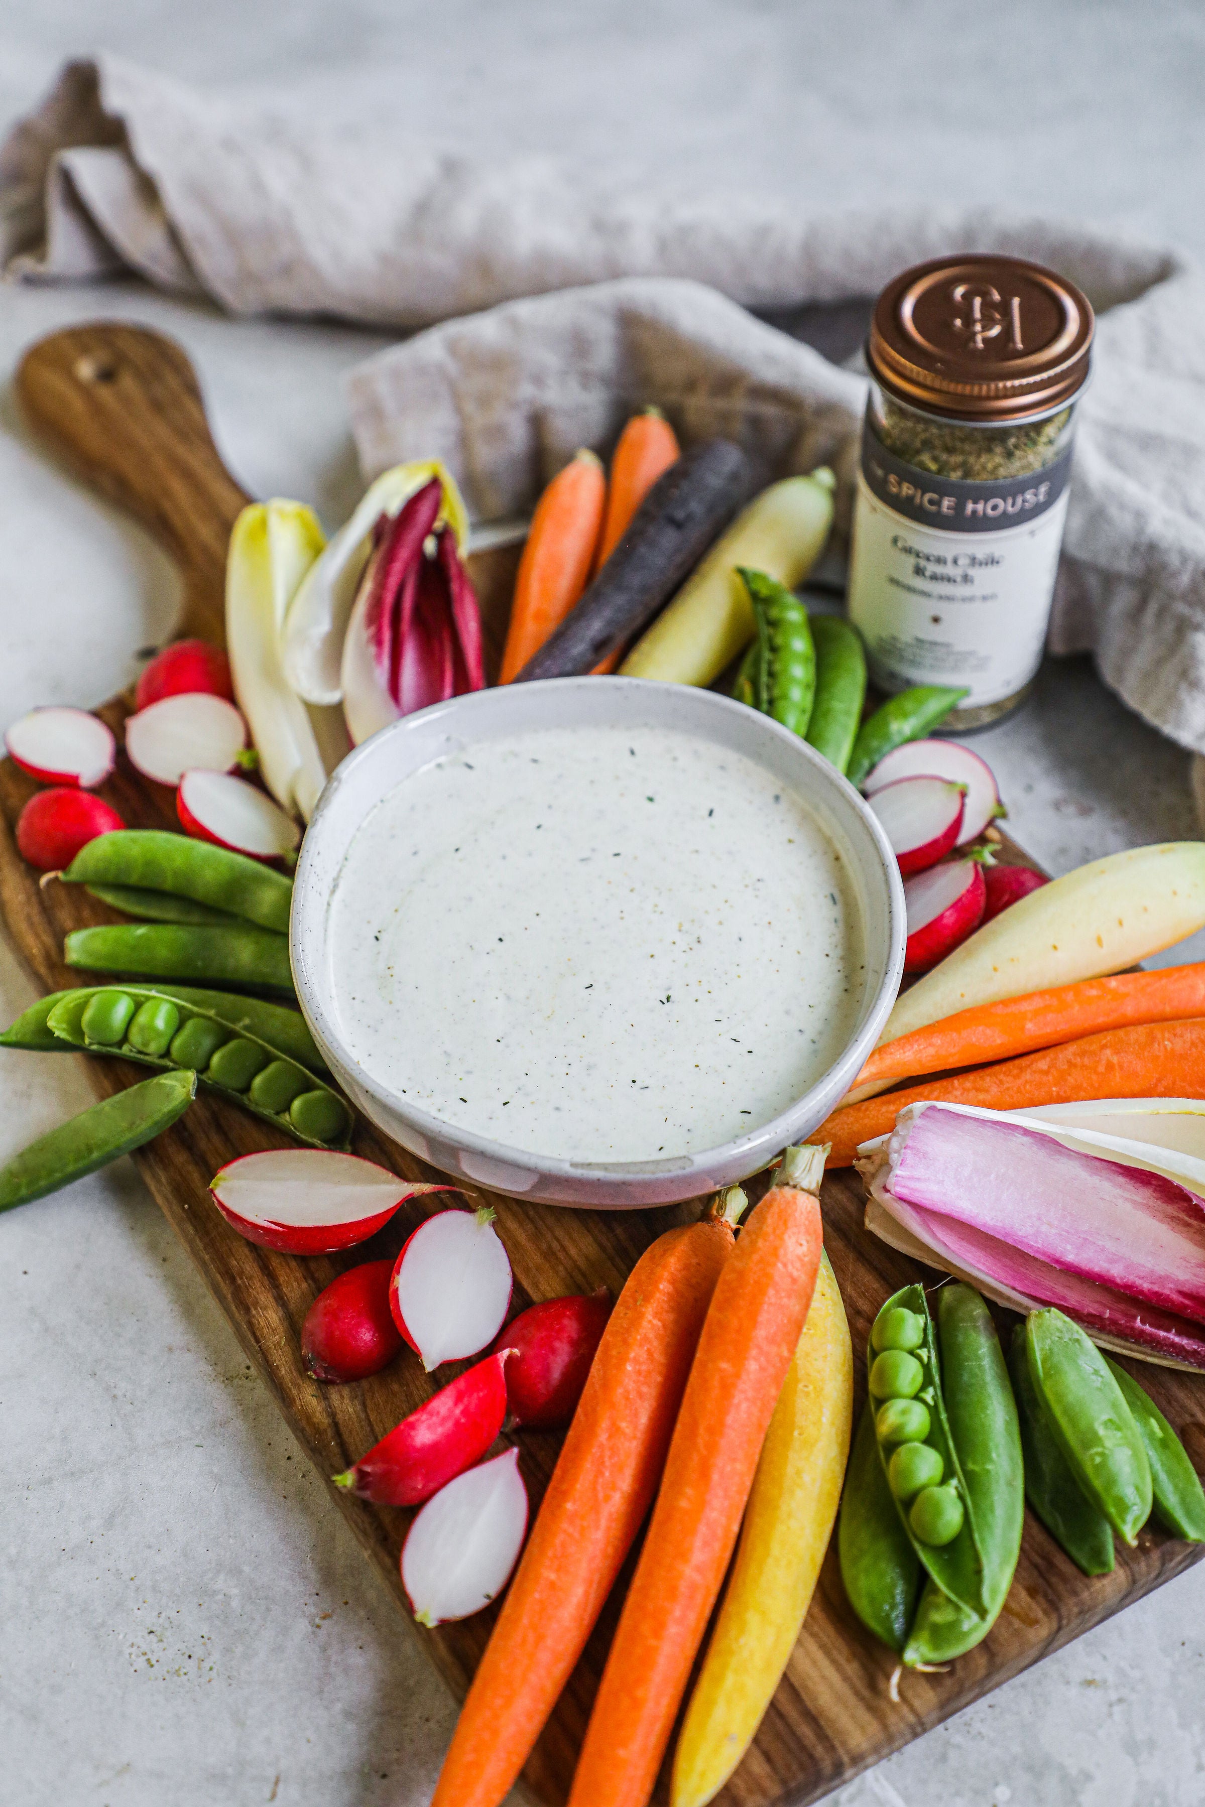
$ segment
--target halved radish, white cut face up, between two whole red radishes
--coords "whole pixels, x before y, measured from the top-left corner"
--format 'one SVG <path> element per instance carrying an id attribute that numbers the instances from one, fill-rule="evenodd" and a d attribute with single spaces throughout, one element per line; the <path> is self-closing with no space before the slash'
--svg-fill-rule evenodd
<path id="1" fill-rule="evenodd" d="M 430 1373 L 493 1343 L 511 1303 L 511 1265 L 493 1211 L 439 1211 L 401 1254 L 388 1308 Z"/>

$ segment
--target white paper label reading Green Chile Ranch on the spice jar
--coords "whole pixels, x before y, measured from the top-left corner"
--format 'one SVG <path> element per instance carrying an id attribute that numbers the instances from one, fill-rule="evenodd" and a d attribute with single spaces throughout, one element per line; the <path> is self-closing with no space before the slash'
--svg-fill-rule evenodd
<path id="1" fill-rule="evenodd" d="M 882 450 L 882 448 L 880 448 Z M 889 454 L 883 454 L 889 457 Z M 1039 488 L 1057 470 L 1004 482 L 954 482 L 891 459 L 954 510 L 957 492 L 999 497 L 1015 484 Z M 871 678 L 882 690 L 914 683 L 967 685 L 963 708 L 981 708 L 1021 690 L 1037 670 L 1046 640 L 1050 598 L 1068 510 L 1066 461 L 1059 493 L 1028 513 L 1003 510 L 986 526 L 950 511 L 905 513 L 914 499 L 892 495 L 891 506 L 858 477 L 849 618 L 865 640 Z M 887 466 L 883 464 L 883 470 Z M 923 501 L 916 504 L 925 508 Z M 934 519 L 943 526 L 934 526 Z M 999 526 L 999 520 L 1015 526 Z M 957 526 L 950 522 L 957 520 Z"/>

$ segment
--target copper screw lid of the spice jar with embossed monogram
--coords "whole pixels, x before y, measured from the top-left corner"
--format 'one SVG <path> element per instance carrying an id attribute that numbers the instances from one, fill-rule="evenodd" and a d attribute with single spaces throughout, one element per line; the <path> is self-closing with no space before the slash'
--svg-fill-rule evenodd
<path id="1" fill-rule="evenodd" d="M 1062 407 L 1091 354 L 1088 296 L 1019 257 L 939 257 L 889 282 L 867 360 L 885 390 L 968 421 L 1019 421 Z"/>

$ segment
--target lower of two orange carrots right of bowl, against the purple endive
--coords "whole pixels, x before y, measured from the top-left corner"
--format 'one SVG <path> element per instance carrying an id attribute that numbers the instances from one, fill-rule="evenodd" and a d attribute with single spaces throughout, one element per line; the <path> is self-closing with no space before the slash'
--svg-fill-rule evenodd
<path id="1" fill-rule="evenodd" d="M 930 1079 L 845 1104 L 820 1124 L 813 1142 L 831 1142 L 829 1167 L 849 1167 L 860 1142 L 894 1129 L 896 1111 L 921 1099 L 983 1104 L 1023 1111 L 1035 1104 L 1077 1104 L 1080 1099 L 1205 1097 L 1205 1017 L 1183 1023 L 1135 1023 L 1060 1048 L 1024 1053 L 1019 1061 L 979 1066 L 974 1073 Z"/>

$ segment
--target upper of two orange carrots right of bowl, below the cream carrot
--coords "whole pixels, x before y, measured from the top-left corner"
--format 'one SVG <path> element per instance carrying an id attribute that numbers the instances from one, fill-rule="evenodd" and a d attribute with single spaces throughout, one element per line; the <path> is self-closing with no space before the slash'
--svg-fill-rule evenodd
<path id="1" fill-rule="evenodd" d="M 1174 1023 L 1205 1016 L 1205 961 L 1162 972 L 1120 972 L 1113 979 L 1080 979 L 1026 997 L 1004 997 L 916 1028 L 874 1048 L 853 1082 L 948 1073 L 956 1066 L 1006 1061 L 1060 1041 L 1079 1041 L 1129 1023 Z"/>

